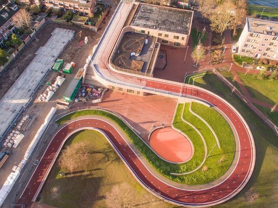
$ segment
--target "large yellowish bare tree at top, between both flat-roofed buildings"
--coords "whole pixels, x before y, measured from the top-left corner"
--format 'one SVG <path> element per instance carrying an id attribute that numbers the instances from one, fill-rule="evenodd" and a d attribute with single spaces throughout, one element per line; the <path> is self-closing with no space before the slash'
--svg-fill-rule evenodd
<path id="1" fill-rule="evenodd" d="M 233 25 L 235 10 L 235 5 L 231 0 L 225 1 L 220 6 L 217 6 L 213 15 L 209 17 L 211 29 L 222 35 L 226 29 Z"/>

